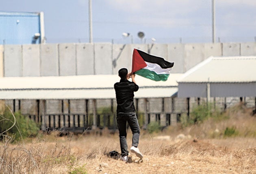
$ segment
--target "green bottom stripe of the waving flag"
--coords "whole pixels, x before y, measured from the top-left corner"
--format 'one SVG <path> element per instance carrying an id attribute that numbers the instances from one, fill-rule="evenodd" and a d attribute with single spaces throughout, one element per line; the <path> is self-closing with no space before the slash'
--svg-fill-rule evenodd
<path id="1" fill-rule="evenodd" d="M 167 81 L 169 77 L 169 74 L 156 74 L 156 72 L 147 69 L 140 69 L 136 71 L 135 74 L 143 76 L 147 79 L 151 79 L 153 81 Z"/>

